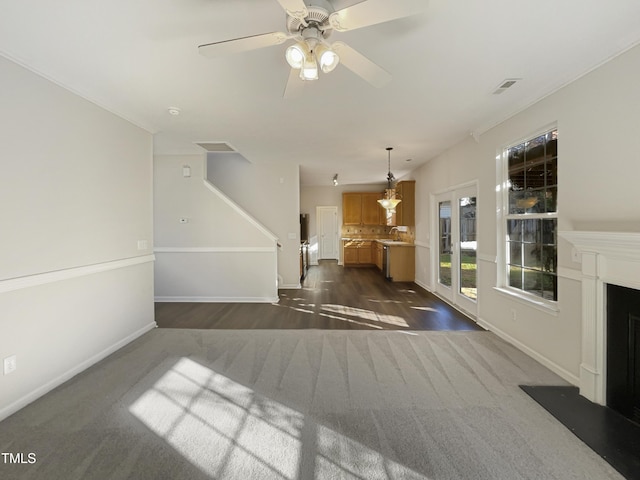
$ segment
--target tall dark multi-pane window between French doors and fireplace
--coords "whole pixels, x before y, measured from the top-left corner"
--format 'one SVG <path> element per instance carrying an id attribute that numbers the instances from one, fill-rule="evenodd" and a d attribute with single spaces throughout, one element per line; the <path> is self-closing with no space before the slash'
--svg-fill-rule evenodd
<path id="1" fill-rule="evenodd" d="M 505 284 L 558 300 L 558 131 L 507 148 Z"/>

